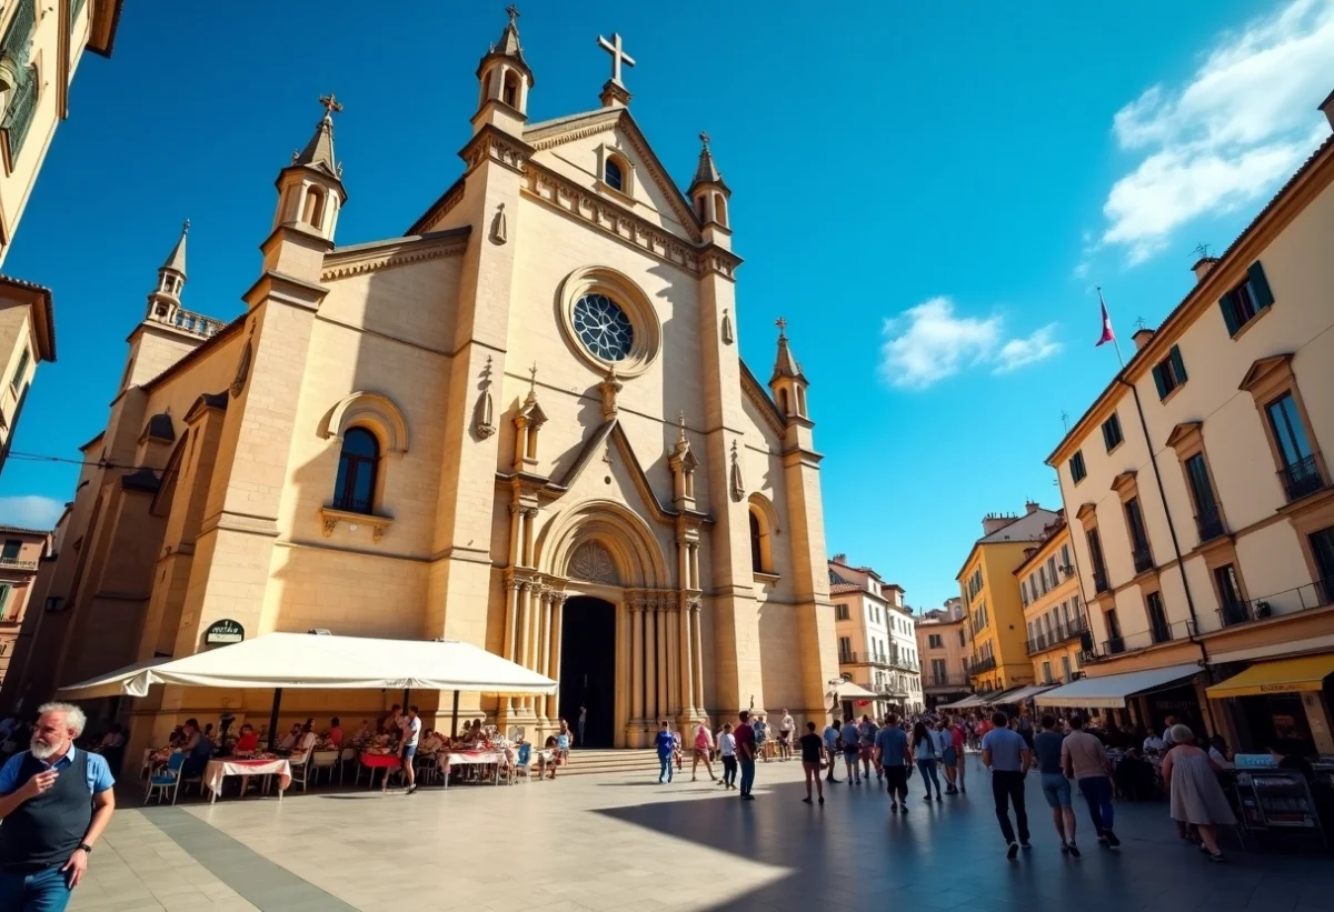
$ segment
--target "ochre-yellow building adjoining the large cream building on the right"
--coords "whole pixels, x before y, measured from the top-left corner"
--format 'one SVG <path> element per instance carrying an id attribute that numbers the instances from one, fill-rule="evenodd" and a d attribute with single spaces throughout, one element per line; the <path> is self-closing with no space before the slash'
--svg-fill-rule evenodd
<path id="1" fill-rule="evenodd" d="M 1079 597 L 1066 517 L 1043 532 L 1029 557 L 1014 569 L 1023 603 L 1023 623 L 1033 677 L 1038 684 L 1066 684 L 1083 671 L 1083 639 L 1089 631 Z"/>

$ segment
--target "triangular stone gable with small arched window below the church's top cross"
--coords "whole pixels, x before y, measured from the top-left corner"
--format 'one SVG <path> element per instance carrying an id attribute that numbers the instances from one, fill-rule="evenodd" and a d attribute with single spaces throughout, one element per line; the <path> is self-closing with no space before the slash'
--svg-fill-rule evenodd
<path id="1" fill-rule="evenodd" d="M 695 209 L 671 179 L 644 132 L 626 108 L 603 108 L 568 117 L 532 124 L 523 140 L 534 148 L 532 160 L 567 179 L 580 180 L 610 201 L 630 211 L 654 209 L 664 225 L 692 243 L 700 241 Z M 614 151 L 634 169 L 636 192 L 626 196 L 610 191 L 599 180 L 602 156 Z M 642 213 L 640 213 L 642 215 Z"/>

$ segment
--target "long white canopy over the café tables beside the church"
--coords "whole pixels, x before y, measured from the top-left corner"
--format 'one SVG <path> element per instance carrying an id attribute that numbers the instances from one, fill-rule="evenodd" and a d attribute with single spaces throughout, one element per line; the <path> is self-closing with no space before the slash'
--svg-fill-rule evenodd
<path id="1" fill-rule="evenodd" d="M 555 693 L 556 683 L 470 643 L 265 633 L 253 640 L 159 659 L 71 684 L 65 700 L 144 696 L 153 684 L 225 688 L 424 689 Z"/>

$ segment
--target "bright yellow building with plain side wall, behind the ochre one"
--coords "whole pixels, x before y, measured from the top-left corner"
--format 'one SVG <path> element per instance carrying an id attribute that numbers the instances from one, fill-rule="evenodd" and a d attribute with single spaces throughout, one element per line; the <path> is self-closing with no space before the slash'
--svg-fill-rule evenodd
<path id="1" fill-rule="evenodd" d="M 959 571 L 959 591 L 967 609 L 972 655 L 968 676 L 974 692 L 1010 691 L 1033 684 L 1033 663 L 1025 639 L 1023 601 L 1014 568 L 1025 551 L 1042 540 L 1057 513 L 1029 503 L 1023 516 L 988 515 Z"/>

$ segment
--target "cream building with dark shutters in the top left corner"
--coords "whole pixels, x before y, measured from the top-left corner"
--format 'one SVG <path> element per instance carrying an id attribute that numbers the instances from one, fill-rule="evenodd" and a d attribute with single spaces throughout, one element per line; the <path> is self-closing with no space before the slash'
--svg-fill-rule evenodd
<path id="1" fill-rule="evenodd" d="M 124 0 L 13 0 L 0 8 L 0 265 L 13 243 L 84 51 L 111 56 Z"/>

